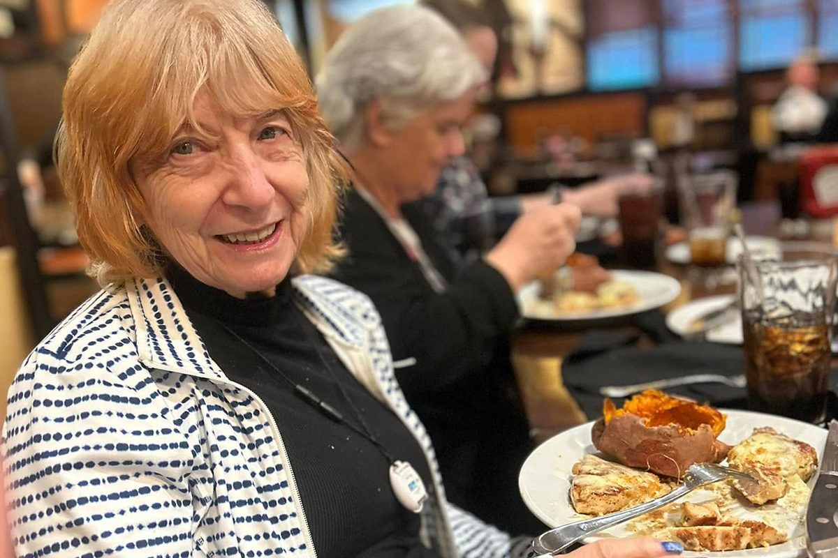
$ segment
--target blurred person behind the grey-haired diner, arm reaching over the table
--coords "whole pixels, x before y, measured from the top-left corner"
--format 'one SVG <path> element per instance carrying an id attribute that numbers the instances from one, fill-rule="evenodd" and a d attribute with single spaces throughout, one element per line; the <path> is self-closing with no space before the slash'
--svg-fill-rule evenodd
<path id="1" fill-rule="evenodd" d="M 453 24 L 487 73 L 493 71 L 498 39 L 478 6 L 464 0 L 422 0 L 422 5 Z M 437 189 L 417 203 L 432 219 L 443 247 L 462 265 L 492 248 L 525 212 L 561 200 L 576 205 L 586 215 L 615 217 L 620 192 L 649 187 L 651 183 L 649 176 L 637 173 L 572 189 L 557 184 L 539 194 L 491 197 L 477 166 L 463 155 L 448 161 Z"/>

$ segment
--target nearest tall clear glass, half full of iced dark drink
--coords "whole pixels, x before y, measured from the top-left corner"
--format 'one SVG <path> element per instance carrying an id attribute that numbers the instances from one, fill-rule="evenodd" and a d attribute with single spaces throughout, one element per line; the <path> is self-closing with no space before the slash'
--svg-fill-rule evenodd
<path id="1" fill-rule="evenodd" d="M 823 422 L 838 258 L 737 261 L 748 407 Z"/>

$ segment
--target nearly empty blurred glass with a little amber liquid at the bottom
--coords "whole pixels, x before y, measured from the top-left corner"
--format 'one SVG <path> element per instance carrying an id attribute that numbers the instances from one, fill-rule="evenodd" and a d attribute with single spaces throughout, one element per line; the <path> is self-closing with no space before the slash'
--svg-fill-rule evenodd
<path id="1" fill-rule="evenodd" d="M 718 272 L 727 264 L 737 176 L 732 171 L 698 174 L 685 177 L 679 187 L 692 279 L 705 284 L 718 282 Z"/>

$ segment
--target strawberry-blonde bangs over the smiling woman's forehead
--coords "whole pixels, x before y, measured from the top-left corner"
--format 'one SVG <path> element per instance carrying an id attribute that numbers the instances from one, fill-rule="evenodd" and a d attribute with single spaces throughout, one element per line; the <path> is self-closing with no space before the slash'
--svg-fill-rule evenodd
<path id="1" fill-rule="evenodd" d="M 300 127 L 299 111 L 316 106 L 306 71 L 276 25 L 235 20 L 222 26 L 212 13 L 190 15 L 191 24 L 169 33 L 169 44 L 150 64 L 157 75 L 146 82 L 153 84 L 146 98 L 131 103 L 142 110 L 132 123 L 138 133 L 126 146 L 127 159 L 163 156 L 184 125 L 211 137 L 194 117 L 195 101 L 204 95 L 236 116 L 284 110 L 294 128 Z"/>

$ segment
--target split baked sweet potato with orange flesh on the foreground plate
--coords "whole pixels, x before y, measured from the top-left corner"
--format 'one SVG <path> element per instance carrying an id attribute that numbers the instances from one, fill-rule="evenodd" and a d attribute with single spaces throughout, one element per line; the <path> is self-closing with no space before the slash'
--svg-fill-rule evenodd
<path id="1" fill-rule="evenodd" d="M 692 463 L 727 456 L 730 447 L 716 439 L 724 427 L 724 415 L 712 407 L 649 390 L 622 409 L 606 399 L 591 438 L 624 465 L 680 478 Z"/>

